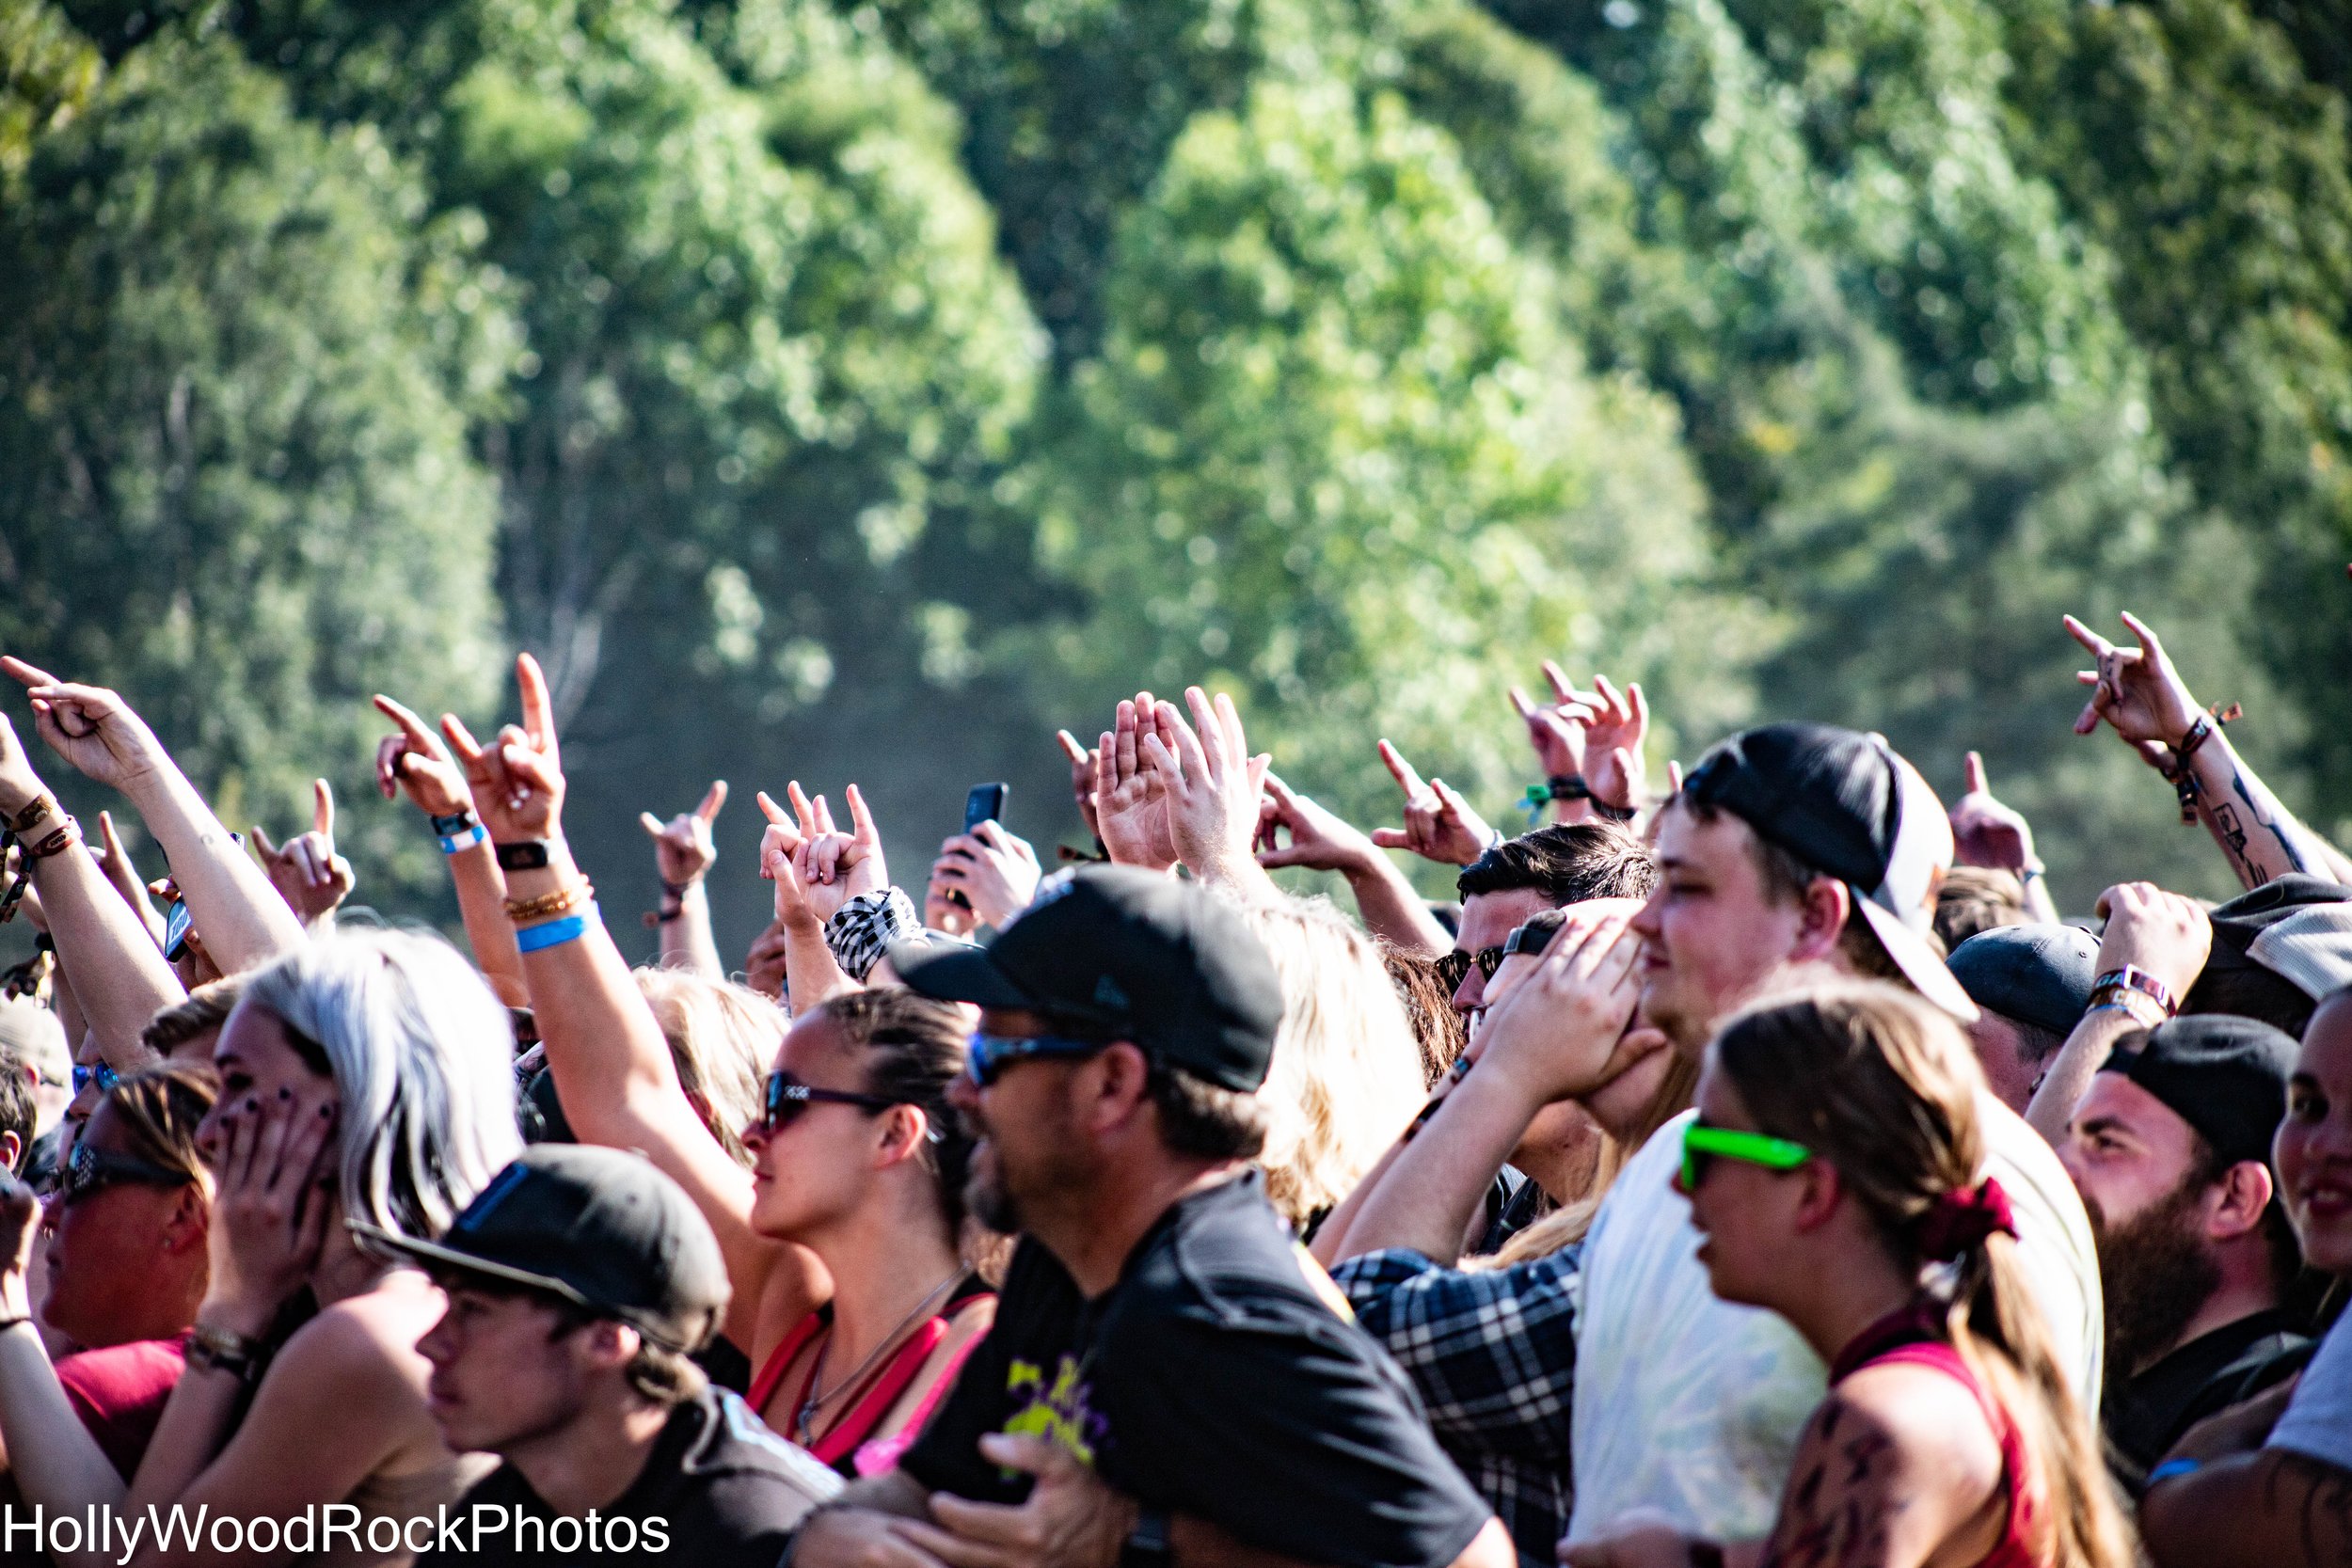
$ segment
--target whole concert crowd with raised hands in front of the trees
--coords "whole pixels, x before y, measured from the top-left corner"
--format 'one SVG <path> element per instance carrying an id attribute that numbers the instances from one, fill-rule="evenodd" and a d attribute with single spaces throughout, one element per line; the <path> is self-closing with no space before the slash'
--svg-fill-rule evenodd
<path id="1" fill-rule="evenodd" d="M 470 952 L 339 914 L 325 780 L 247 844 L 0 658 L 169 872 L 0 717 L 0 1552 L 2352 1563 L 2352 860 L 2126 628 L 2077 731 L 2227 903 L 2060 919 L 1976 757 L 1828 724 L 1653 790 L 1642 689 L 1545 665 L 1517 837 L 1385 741 L 1345 823 L 1200 689 L 1061 733 L 1051 875 L 985 820 L 917 896 L 858 785 L 762 792 L 736 971 L 727 785 L 644 816 L 633 969 L 529 656 L 487 741 L 376 698 Z"/>

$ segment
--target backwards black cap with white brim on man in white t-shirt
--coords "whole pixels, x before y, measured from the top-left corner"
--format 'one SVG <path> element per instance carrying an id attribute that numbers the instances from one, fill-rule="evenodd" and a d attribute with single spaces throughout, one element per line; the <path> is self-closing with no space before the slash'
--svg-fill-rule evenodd
<path id="1" fill-rule="evenodd" d="M 1962 1023 L 1976 1004 L 1926 933 L 1952 870 L 1952 823 L 1919 769 L 1879 736 L 1835 724 L 1759 724 L 1717 743 L 1682 785 L 1853 891 L 1886 957 Z"/>

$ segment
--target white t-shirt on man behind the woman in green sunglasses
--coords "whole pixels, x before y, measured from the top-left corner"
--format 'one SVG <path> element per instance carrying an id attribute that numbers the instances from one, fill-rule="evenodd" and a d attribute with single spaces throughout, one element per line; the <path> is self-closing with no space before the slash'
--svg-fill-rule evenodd
<path id="1" fill-rule="evenodd" d="M 2023 1117 L 1978 1095 L 1985 1173 L 2009 1190 L 2018 1255 L 2084 1403 L 2100 1368 L 2098 1253 L 2065 1166 Z M 1672 1187 L 1682 1128 L 1668 1121 L 1625 1161 L 1585 1237 L 1578 1279 L 1569 1540 L 1630 1509 L 1658 1509 L 1710 1540 L 1771 1528 L 1828 1368 L 1780 1316 L 1708 1286 L 1691 1204 Z"/>

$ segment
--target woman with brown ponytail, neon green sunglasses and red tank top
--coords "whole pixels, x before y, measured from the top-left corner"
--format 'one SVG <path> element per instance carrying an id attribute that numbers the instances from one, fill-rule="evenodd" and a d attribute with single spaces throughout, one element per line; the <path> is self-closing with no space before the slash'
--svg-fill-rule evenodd
<path id="1" fill-rule="evenodd" d="M 2129 1568 L 2009 1197 L 1980 1178 L 1980 1088 L 1959 1030 L 1891 987 L 1724 1025 L 1677 1187 L 1715 1293 L 1780 1314 L 1830 1366 L 1830 1394 L 1762 1542 L 1628 1519 L 1571 1566 Z"/>

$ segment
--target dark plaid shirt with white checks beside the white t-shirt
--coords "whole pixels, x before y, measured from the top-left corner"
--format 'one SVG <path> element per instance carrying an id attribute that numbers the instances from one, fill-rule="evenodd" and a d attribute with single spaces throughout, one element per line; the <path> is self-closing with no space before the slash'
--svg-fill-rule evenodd
<path id="1" fill-rule="evenodd" d="M 1331 1279 L 1414 1380 L 1430 1429 L 1494 1505 L 1522 1563 L 1552 1568 L 1576 1500 L 1569 1392 L 1583 1241 L 1508 1269 L 1446 1269 L 1388 1248 Z"/>

